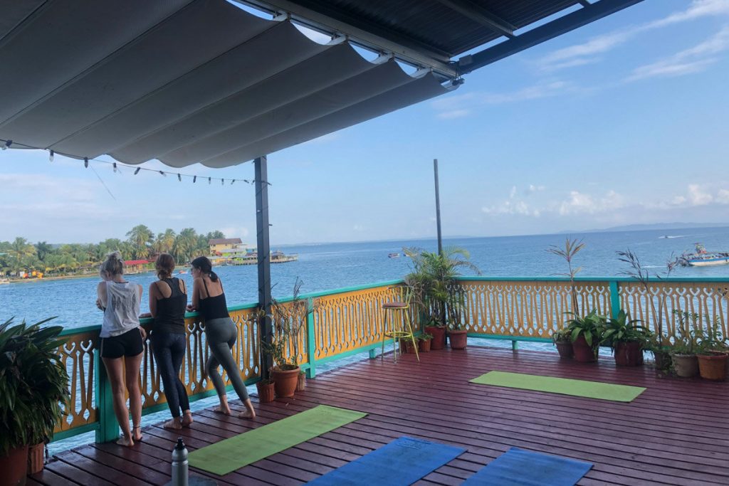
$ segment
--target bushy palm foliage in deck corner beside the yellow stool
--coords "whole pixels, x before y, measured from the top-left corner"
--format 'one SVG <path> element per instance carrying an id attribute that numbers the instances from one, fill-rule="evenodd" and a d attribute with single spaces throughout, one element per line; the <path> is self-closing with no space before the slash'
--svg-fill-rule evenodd
<path id="1" fill-rule="evenodd" d="M 456 246 L 446 246 L 442 254 L 421 248 L 402 248 L 402 251 L 412 263 L 405 283 L 414 307 L 439 326 L 448 323 L 452 329 L 460 329 L 467 318 L 466 291 L 457 277 L 461 275 L 461 269 L 480 275 L 478 267 L 468 261 L 469 252 Z"/>

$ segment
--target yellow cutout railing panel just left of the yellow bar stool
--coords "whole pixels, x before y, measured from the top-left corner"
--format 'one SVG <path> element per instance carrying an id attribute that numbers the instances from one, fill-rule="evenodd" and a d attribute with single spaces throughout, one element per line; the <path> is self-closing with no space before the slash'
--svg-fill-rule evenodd
<path id="1" fill-rule="evenodd" d="M 315 358 L 322 359 L 373 345 L 382 340 L 385 302 L 397 291 L 374 287 L 316 298 L 314 313 Z"/>

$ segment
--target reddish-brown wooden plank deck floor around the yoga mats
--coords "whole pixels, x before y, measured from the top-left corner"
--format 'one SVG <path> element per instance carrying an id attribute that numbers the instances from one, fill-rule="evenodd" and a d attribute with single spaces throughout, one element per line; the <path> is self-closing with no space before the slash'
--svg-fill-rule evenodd
<path id="1" fill-rule="evenodd" d="M 144 429 L 132 449 L 90 444 L 63 452 L 30 485 L 160 485 L 178 435 L 194 450 L 317 404 L 366 418 L 271 455 L 219 484 L 300 485 L 399 436 L 467 452 L 418 485 L 458 485 L 512 446 L 594 463 L 580 485 L 729 485 L 729 383 L 658 378 L 652 367 L 561 362 L 555 353 L 494 348 L 386 356 L 308 380 L 295 399 L 256 404 L 254 422 L 204 410 L 182 434 Z M 468 383 L 493 369 L 647 387 L 629 404 Z M 240 403 L 234 407 L 241 409 Z M 197 471 L 195 471 L 197 472 Z M 199 474 L 199 473 L 198 473 Z"/>

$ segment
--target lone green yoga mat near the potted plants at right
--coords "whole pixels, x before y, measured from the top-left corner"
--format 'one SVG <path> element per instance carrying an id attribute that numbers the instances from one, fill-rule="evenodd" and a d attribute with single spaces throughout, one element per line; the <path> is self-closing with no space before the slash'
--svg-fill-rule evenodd
<path id="1" fill-rule="evenodd" d="M 569 380 L 567 378 L 507 372 L 488 372 L 469 381 L 480 385 L 548 391 L 563 395 L 585 396 L 588 399 L 612 401 L 633 401 L 636 396 L 645 391 L 645 388 L 640 386 L 615 385 L 614 383 L 601 383 L 598 381 Z"/>

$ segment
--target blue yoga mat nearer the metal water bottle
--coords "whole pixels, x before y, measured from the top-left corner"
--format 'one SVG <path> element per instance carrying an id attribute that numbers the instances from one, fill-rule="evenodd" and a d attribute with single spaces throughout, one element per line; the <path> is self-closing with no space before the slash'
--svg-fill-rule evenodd
<path id="1" fill-rule="evenodd" d="M 400 437 L 318 477 L 316 486 L 407 486 L 465 452 L 461 447 Z"/>

